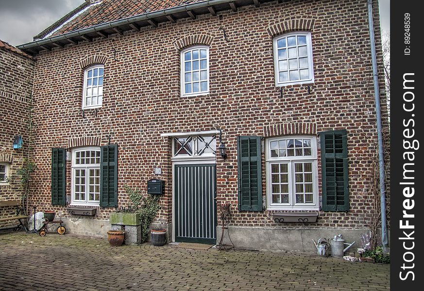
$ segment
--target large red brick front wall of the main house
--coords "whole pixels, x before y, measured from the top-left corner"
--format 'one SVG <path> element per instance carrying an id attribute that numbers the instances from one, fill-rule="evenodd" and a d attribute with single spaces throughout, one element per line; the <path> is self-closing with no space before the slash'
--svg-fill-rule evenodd
<path id="1" fill-rule="evenodd" d="M 377 55 L 382 73 L 378 3 L 374 5 Z M 272 38 L 268 28 L 292 19 L 312 19 L 315 88 L 274 84 Z M 300 24 L 299 24 L 300 25 Z M 224 39 L 222 29 L 227 34 Z M 294 27 L 296 29 L 297 27 Z M 174 44 L 192 35 L 210 39 L 210 94 L 180 96 L 180 53 Z M 114 52 L 116 51 L 116 55 Z M 82 103 L 83 68 L 87 58 L 105 59 L 103 106 L 97 116 L 78 115 Z M 383 75 L 380 76 L 383 86 Z M 385 94 L 381 94 L 388 126 Z M 34 104 L 37 171 L 34 203 L 51 207 L 51 147 L 68 147 L 68 139 L 112 133 L 119 144 L 119 205 L 126 205 L 125 183 L 146 193 L 147 180 L 166 180 L 161 216 L 171 221 L 170 140 L 166 132 L 223 129 L 228 159 L 217 156 L 218 199 L 231 201 L 233 225 L 276 226 L 271 211 L 237 211 L 237 135 L 264 135 L 264 127 L 313 123 L 317 132 L 347 129 L 350 211 L 320 212 L 310 227 L 366 227 L 372 205 L 372 156 L 376 151 L 376 117 L 366 0 L 288 1 L 250 6 L 219 16 L 198 16 L 177 24 L 160 24 L 141 32 L 96 39 L 37 57 Z M 320 160 L 320 157 L 319 157 Z M 162 167 L 163 175 L 153 174 Z M 69 169 L 69 167 L 68 167 Z M 263 163 L 265 194 L 265 166 Z M 319 165 L 321 179 L 321 170 Z M 70 194 L 70 169 L 68 170 Z M 321 180 L 320 180 L 321 185 Z M 320 187 L 321 195 L 321 187 Z M 107 219 L 111 208 L 96 218 Z M 285 224 L 282 227 L 299 226 Z"/>

